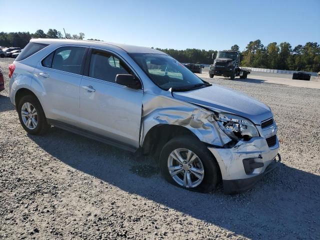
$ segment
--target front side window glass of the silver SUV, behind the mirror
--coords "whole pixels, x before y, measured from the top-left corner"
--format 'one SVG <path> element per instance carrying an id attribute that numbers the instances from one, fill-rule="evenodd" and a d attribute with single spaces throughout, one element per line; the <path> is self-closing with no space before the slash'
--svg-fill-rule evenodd
<path id="1" fill-rule="evenodd" d="M 128 74 L 129 68 L 116 56 L 100 51 L 92 50 L 89 76 L 105 81 L 115 82 L 116 74 Z"/>

